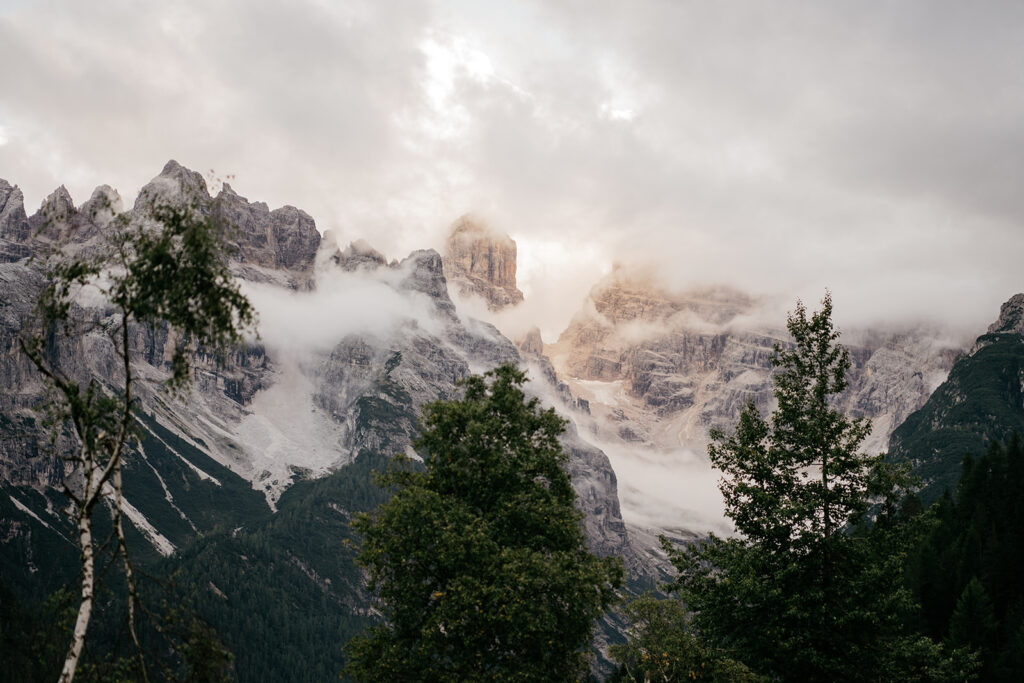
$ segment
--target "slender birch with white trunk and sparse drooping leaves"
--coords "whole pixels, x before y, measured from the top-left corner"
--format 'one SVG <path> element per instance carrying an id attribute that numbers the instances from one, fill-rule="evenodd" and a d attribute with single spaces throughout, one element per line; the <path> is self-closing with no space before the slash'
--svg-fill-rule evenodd
<path id="1" fill-rule="evenodd" d="M 71 683 L 85 647 L 97 581 L 97 552 L 110 547 L 120 562 L 127 592 L 128 634 L 138 668 L 147 680 L 139 643 L 137 577 L 125 539 L 122 494 L 125 457 L 134 440 L 136 373 L 132 340 L 148 328 L 166 333 L 170 353 L 165 386 L 183 390 L 191 377 L 190 358 L 202 348 L 220 355 L 239 345 L 255 324 L 253 309 L 228 269 L 229 226 L 204 215 L 188 202 L 161 204 L 148 216 L 121 214 L 106 239 L 77 253 L 55 251 L 48 259 L 49 284 L 40 295 L 34 324 L 19 343 L 51 388 L 47 405 L 57 434 L 74 444 L 63 489 L 73 507 L 81 552 L 78 614 L 61 669 Z M 108 310 L 90 319 L 80 302 L 100 297 Z M 69 357 L 75 340 L 104 332 L 119 368 L 114 378 L 89 376 Z M 165 354 L 166 355 L 166 354 Z M 63 441 L 62 441 L 63 442 Z M 104 505 L 101 505 L 104 504 Z M 95 538 L 97 508 L 110 510 L 111 538 Z"/>

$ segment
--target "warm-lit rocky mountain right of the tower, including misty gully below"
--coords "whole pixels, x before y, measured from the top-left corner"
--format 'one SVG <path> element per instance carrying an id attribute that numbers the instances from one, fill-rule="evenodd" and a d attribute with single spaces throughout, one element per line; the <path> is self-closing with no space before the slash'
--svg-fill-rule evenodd
<path id="1" fill-rule="evenodd" d="M 731 430 L 748 401 L 762 413 L 773 408 L 772 348 L 787 342 L 784 319 L 762 306 L 728 289 L 670 291 L 621 268 L 544 347 L 586 407 L 589 415 L 577 416 L 581 431 L 611 458 L 637 533 L 725 528 L 718 475 L 705 454 L 711 428 Z M 893 428 L 945 378 L 956 351 L 938 338 L 925 328 L 844 337 L 854 367 L 840 403 L 870 419 L 865 451 L 883 451 Z"/>

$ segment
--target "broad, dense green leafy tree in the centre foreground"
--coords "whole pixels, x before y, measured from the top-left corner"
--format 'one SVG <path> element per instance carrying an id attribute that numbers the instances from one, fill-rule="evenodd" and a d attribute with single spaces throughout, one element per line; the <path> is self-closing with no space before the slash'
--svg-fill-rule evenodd
<path id="1" fill-rule="evenodd" d="M 558 442 L 563 421 L 525 400 L 503 366 L 464 397 L 424 408 L 414 442 L 382 477 L 392 498 L 359 516 L 359 562 L 385 623 L 347 646 L 359 680 L 566 681 L 623 579 L 588 552 Z"/>

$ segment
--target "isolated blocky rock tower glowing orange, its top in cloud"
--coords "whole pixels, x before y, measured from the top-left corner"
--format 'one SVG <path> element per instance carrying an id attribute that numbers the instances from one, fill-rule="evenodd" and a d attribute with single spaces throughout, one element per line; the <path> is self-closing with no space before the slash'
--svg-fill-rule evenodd
<path id="1" fill-rule="evenodd" d="M 452 225 L 445 245 L 444 276 L 462 296 L 477 295 L 490 310 L 522 301 L 515 282 L 516 245 L 472 216 Z"/>

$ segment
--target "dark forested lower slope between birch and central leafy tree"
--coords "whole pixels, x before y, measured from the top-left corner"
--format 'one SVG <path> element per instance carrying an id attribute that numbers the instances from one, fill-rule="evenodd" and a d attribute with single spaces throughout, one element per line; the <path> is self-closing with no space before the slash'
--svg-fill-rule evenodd
<path id="1" fill-rule="evenodd" d="M 341 644 L 374 618 L 349 526 L 386 499 L 372 480 L 387 459 L 361 453 L 338 472 L 298 481 L 278 512 L 198 539 L 167 561 L 186 603 L 234 654 L 241 681 L 326 681 Z"/>

